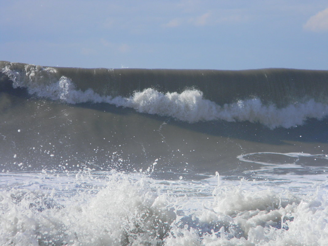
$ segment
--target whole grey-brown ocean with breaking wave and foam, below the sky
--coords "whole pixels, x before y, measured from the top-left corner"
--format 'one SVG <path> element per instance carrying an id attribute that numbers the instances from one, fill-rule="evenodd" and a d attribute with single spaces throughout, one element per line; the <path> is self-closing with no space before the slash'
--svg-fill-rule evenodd
<path id="1" fill-rule="evenodd" d="M 328 71 L 0 62 L 0 245 L 328 245 Z"/>

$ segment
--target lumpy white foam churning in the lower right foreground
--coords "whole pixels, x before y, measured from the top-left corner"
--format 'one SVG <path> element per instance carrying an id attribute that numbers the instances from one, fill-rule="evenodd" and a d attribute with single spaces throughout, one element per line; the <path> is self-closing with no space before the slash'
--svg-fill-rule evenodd
<path id="1" fill-rule="evenodd" d="M 196 229 L 216 223 L 224 225 L 220 230 L 199 240 L 199 230 L 177 228 L 180 236 L 170 237 L 167 245 L 326 245 L 326 191 L 301 196 L 287 190 L 250 191 L 248 185 L 217 187 L 214 202 L 198 215 L 202 226 Z"/>

